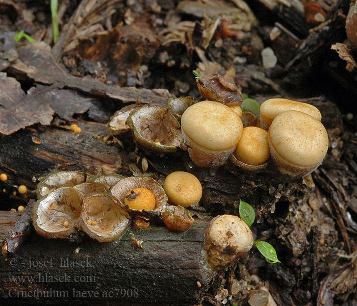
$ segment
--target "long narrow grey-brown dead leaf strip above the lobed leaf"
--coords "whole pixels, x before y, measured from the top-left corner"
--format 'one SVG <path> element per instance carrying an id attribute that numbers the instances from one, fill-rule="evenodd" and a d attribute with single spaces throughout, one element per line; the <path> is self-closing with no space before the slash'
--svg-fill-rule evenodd
<path id="1" fill-rule="evenodd" d="M 62 85 L 97 96 L 111 97 L 119 99 L 123 103 L 156 102 L 166 106 L 167 100 L 173 97 L 166 89 L 122 88 L 86 77 L 74 77 L 54 60 L 50 53 L 50 47 L 43 42 L 28 44 L 18 49 L 18 54 L 19 59 L 9 69 L 14 74 L 22 75 L 22 77 L 25 74 L 28 78 L 42 84 L 53 85 L 58 83 L 58 87 Z"/>

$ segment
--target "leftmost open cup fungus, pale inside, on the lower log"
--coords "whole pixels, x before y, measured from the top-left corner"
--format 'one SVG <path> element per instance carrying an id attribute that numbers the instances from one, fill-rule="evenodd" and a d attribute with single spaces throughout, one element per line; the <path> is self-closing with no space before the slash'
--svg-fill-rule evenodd
<path id="1" fill-rule="evenodd" d="M 37 200 L 32 211 L 36 232 L 45 238 L 67 238 L 77 231 L 83 193 L 72 187 L 61 187 Z"/>

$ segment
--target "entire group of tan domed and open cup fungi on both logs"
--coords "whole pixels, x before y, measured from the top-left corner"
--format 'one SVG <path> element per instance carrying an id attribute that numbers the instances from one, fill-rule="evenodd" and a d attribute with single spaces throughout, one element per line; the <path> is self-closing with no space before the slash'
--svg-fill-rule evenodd
<path id="1" fill-rule="evenodd" d="M 184 97 L 170 99 L 166 108 L 125 107 L 107 124 L 111 135 L 133 135 L 139 147 L 160 154 L 188 150 L 197 167 L 230 161 L 243 170 L 260 171 L 272 162 L 283 174 L 304 177 L 321 164 L 328 137 L 316 107 L 268 99 L 259 120 L 249 121 L 237 86 L 217 74 L 197 78 L 197 85 L 207 100 Z M 131 222 L 136 229 L 146 228 L 152 219 L 183 232 L 194 222 L 187 208 L 201 195 L 200 181 L 183 171 L 167 175 L 163 185 L 147 176 L 54 172 L 38 184 L 33 224 L 45 238 L 68 238 L 81 230 L 100 242 L 117 240 Z M 224 267 L 246 254 L 252 243 L 244 221 L 223 215 L 211 221 L 204 249 L 212 266 Z"/>

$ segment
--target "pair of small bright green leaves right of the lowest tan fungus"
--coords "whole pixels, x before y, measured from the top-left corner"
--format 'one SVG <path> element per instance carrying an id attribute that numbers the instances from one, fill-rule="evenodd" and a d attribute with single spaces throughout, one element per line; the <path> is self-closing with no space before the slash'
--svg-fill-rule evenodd
<path id="1" fill-rule="evenodd" d="M 256 214 L 254 209 L 247 203 L 239 199 L 239 216 L 250 227 Z M 274 247 L 266 241 L 254 241 L 254 245 L 258 248 L 258 251 L 265 257 L 266 261 L 270 264 L 279 263 L 277 259 L 276 251 Z"/>

